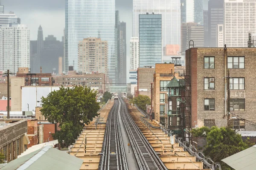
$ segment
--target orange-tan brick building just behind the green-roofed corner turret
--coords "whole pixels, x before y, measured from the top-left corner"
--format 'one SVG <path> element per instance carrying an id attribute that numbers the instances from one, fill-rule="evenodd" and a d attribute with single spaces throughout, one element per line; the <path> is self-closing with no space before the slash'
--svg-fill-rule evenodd
<path id="1" fill-rule="evenodd" d="M 165 98 L 167 96 L 166 85 L 173 79 L 182 79 L 178 73 L 175 73 L 174 64 L 156 64 L 153 82 L 153 94 L 151 95 L 154 106 L 154 119 L 164 125 L 165 123 Z"/>

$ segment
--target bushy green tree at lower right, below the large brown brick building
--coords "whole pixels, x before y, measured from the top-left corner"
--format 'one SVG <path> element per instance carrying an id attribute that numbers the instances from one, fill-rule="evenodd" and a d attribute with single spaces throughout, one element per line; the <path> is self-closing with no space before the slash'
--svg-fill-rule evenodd
<path id="1" fill-rule="evenodd" d="M 204 147 L 204 155 L 209 156 L 215 162 L 221 162 L 221 159 L 227 158 L 235 153 L 247 149 L 253 144 L 243 142 L 241 135 L 237 134 L 230 127 L 218 128 L 213 126 L 201 127 L 191 131 L 195 137 L 204 137 L 207 144 Z M 221 162 L 221 168 L 224 170 L 233 170 L 224 162 Z"/>

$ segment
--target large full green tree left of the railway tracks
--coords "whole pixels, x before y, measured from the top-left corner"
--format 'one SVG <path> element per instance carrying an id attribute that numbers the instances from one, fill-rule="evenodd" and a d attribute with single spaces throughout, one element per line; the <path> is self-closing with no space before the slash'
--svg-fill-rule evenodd
<path id="1" fill-rule="evenodd" d="M 52 91 L 42 97 L 41 113 L 51 123 L 59 123 L 61 130 L 53 135 L 54 139 L 65 146 L 75 142 L 84 124 L 88 124 L 98 116 L 99 103 L 96 102 L 97 92 L 88 87 L 74 86 Z"/>

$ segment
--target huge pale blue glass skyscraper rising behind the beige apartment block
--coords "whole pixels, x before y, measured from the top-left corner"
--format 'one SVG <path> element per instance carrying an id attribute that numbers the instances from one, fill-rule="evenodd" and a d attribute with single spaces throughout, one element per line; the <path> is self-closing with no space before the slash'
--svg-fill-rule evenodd
<path id="1" fill-rule="evenodd" d="M 65 62 L 78 70 L 78 44 L 84 38 L 108 41 L 108 75 L 116 82 L 115 0 L 65 1 Z"/>

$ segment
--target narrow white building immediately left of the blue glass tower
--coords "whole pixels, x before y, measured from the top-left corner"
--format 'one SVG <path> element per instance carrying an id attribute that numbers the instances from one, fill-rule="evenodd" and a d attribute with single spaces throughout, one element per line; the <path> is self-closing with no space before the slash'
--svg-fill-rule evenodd
<path id="1" fill-rule="evenodd" d="M 139 68 L 139 58 L 140 58 L 140 42 L 139 37 L 131 37 L 130 40 L 130 69 L 137 70 Z"/>

